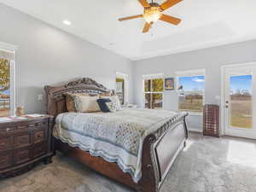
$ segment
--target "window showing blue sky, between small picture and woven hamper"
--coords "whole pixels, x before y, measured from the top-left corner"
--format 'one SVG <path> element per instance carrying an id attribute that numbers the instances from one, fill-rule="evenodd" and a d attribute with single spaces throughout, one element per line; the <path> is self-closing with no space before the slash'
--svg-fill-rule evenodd
<path id="1" fill-rule="evenodd" d="M 205 70 L 177 73 L 178 110 L 201 113 L 205 96 Z"/>

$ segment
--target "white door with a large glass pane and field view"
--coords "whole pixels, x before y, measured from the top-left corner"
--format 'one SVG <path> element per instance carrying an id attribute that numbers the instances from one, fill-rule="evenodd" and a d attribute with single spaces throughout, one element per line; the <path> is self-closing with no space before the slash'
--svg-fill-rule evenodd
<path id="1" fill-rule="evenodd" d="M 256 64 L 224 67 L 224 133 L 256 139 Z"/>

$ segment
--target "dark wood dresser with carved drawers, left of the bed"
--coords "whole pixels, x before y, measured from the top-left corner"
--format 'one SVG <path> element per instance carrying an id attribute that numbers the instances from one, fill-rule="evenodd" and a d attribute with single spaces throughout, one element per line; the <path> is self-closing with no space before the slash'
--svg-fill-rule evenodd
<path id="1" fill-rule="evenodd" d="M 53 156 L 54 118 L 44 115 L 0 123 L 0 177 L 26 172 L 38 161 L 50 163 Z"/>

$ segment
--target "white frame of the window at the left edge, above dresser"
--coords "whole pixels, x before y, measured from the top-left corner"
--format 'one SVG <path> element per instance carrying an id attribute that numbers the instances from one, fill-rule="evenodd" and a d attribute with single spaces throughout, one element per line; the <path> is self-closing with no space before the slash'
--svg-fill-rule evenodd
<path id="1" fill-rule="evenodd" d="M 15 86 L 15 66 L 16 66 L 16 50 L 17 46 L 13 44 L 6 44 L 0 42 L 0 49 L 6 52 L 12 52 L 14 54 L 14 60 L 10 61 L 10 82 L 9 82 L 9 92 L 10 92 L 10 106 L 9 106 L 9 115 L 15 115 L 15 106 L 16 106 L 16 86 Z"/>

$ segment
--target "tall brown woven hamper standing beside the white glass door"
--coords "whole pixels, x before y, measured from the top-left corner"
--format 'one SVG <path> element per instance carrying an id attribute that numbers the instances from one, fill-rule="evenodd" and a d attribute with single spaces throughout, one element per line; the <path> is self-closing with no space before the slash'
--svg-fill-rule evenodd
<path id="1" fill-rule="evenodd" d="M 203 116 L 204 136 L 219 137 L 219 107 L 218 105 L 205 105 Z"/>

